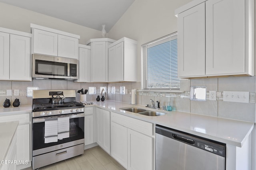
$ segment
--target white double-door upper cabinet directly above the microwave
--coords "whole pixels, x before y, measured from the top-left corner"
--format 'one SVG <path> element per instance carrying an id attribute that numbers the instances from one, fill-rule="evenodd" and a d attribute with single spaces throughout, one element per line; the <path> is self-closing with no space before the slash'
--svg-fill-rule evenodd
<path id="1" fill-rule="evenodd" d="M 30 24 L 32 27 L 33 53 L 78 59 L 80 35 Z"/>

